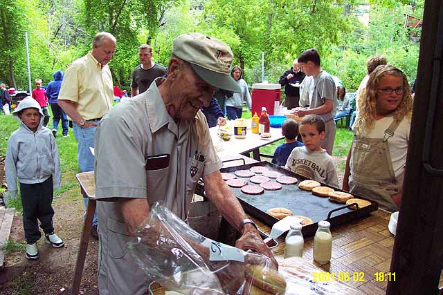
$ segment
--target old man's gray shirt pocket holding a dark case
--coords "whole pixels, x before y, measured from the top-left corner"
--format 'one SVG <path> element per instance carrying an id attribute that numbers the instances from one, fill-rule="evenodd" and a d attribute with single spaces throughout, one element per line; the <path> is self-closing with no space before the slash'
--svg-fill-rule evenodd
<path id="1" fill-rule="evenodd" d="M 171 184 L 169 171 L 169 166 L 162 169 L 146 171 L 147 202 L 150 206 L 158 200 L 166 200 L 168 184 Z"/>

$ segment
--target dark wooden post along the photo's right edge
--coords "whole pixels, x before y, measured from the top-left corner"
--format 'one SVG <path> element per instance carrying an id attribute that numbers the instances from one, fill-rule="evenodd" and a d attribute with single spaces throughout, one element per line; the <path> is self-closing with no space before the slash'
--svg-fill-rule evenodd
<path id="1" fill-rule="evenodd" d="M 439 294 L 443 258 L 443 2 L 426 0 L 404 193 L 386 294 Z M 428 153 L 426 153 L 426 150 Z"/>

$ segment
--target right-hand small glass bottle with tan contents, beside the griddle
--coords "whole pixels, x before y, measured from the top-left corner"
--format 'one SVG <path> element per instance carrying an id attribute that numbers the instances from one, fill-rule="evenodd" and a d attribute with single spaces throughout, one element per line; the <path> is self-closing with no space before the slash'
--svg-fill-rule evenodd
<path id="1" fill-rule="evenodd" d="M 332 255 L 331 224 L 325 220 L 318 222 L 318 229 L 314 236 L 314 260 L 317 263 L 329 263 Z"/>

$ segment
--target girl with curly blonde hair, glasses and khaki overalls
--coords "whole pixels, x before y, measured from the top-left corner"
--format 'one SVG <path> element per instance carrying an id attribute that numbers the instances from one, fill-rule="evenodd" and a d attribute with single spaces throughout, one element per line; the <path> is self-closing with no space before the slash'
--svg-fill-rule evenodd
<path id="1" fill-rule="evenodd" d="M 413 110 L 406 75 L 394 66 L 377 66 L 360 103 L 343 189 L 398 211 Z"/>

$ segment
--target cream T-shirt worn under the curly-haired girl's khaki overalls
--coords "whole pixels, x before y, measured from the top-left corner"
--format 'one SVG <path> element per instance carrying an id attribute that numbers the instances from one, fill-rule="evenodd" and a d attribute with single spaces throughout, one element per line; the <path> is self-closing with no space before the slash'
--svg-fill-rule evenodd
<path id="1" fill-rule="evenodd" d="M 374 129 L 368 134 L 369 138 L 383 138 L 386 129 L 394 120 L 393 115 L 388 115 L 375 122 Z M 397 129 L 395 130 L 394 136 L 390 137 L 388 140 L 388 148 L 390 153 L 390 158 L 392 161 L 392 167 L 394 169 L 395 177 L 399 177 L 404 173 L 406 166 L 406 155 L 408 153 L 408 143 L 409 143 L 409 132 L 410 132 L 410 119 L 404 118 Z"/>

